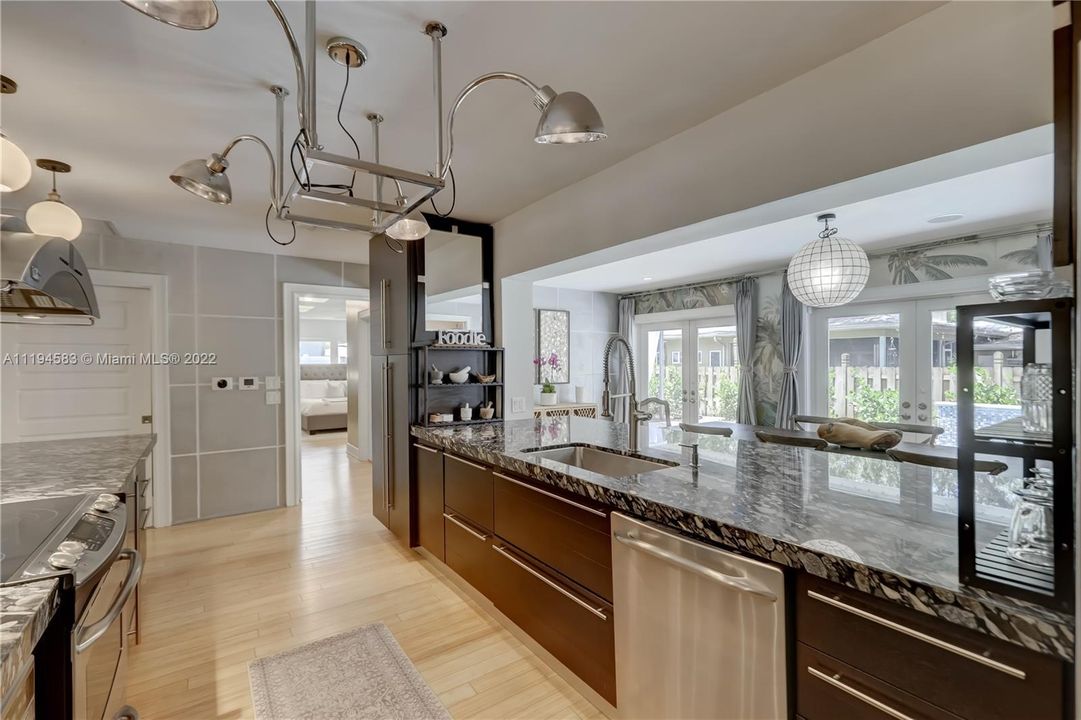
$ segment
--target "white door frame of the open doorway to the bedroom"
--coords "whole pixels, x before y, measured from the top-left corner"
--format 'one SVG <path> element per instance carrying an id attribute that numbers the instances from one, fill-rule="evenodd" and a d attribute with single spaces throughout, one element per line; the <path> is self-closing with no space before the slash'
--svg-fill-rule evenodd
<path id="1" fill-rule="evenodd" d="M 365 301 L 371 303 L 368 288 L 342 288 L 339 285 L 312 285 L 298 282 L 283 282 L 281 285 L 282 358 L 284 377 L 282 400 L 285 413 L 285 505 L 301 502 L 301 415 L 296 412 L 299 395 L 301 359 L 297 356 L 299 342 L 301 311 L 299 295 L 313 293 L 330 297 Z M 371 350 L 369 349 L 369 354 Z M 363 381 L 363 378 L 361 378 Z M 346 403 L 348 404 L 348 403 Z"/>

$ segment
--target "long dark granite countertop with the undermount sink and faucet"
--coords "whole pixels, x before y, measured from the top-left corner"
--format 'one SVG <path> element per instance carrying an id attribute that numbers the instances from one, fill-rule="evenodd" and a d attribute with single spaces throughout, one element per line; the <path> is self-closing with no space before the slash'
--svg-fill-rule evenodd
<path id="1" fill-rule="evenodd" d="M 686 535 L 1072 662 L 1072 615 L 959 582 L 953 470 L 653 428 L 640 454 L 685 463 L 679 443 L 693 440 L 699 470 L 681 465 L 613 478 L 523 451 L 583 443 L 626 452 L 620 424 L 560 417 L 412 434 Z M 982 504 L 1007 522 L 1013 481 L 985 478 Z"/>

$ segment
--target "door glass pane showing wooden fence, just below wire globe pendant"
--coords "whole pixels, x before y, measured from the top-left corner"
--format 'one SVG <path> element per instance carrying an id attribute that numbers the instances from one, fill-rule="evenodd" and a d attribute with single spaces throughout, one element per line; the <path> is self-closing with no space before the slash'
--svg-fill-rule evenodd
<path id="1" fill-rule="evenodd" d="M 899 422 L 900 315 L 830 318 L 827 332 L 829 415 Z"/>

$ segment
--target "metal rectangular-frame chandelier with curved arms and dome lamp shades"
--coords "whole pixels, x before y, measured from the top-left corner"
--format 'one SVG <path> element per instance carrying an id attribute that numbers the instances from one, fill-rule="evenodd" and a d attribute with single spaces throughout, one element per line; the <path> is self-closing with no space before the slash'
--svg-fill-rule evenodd
<path id="1" fill-rule="evenodd" d="M 122 1 L 157 21 L 185 29 L 206 29 L 218 19 L 217 6 L 213 0 Z M 540 112 L 533 136 L 536 143 L 545 145 L 591 143 L 606 137 L 597 108 L 585 95 L 576 92 L 557 93 L 548 85 L 537 85 L 521 75 L 506 71 L 489 72 L 469 82 L 458 93 L 444 121 L 442 41 L 446 36 L 446 27 L 442 23 L 429 22 L 424 27 L 424 34 L 431 39 L 432 48 L 432 91 L 436 102 L 433 169 L 414 172 L 381 163 L 378 133 L 383 117 L 377 114 L 368 115 L 372 125 L 371 160 L 328 152 L 319 144 L 316 126 L 316 2 L 315 0 L 305 2 L 303 57 L 296 36 L 278 2 L 267 0 L 267 4 L 281 25 L 296 69 L 296 112 L 301 130 L 288 156 L 283 135 L 283 110 L 284 98 L 289 95 L 289 91 L 276 86 L 271 91 L 277 103 L 277 152 L 255 135 L 239 135 L 229 141 L 221 152 L 185 162 L 170 178 L 179 187 L 203 199 L 228 204 L 232 199 L 226 176 L 229 152 L 238 143 L 244 141 L 259 145 L 270 161 L 268 232 L 272 211 L 279 219 L 294 223 L 294 238 L 295 223 L 371 234 L 386 232 L 396 240 L 417 240 L 425 237 L 429 228 L 421 213 L 421 206 L 445 187 L 449 173 L 453 184 L 451 163 L 454 159 L 455 115 L 470 93 L 493 80 L 510 80 L 524 85 L 532 93 L 533 105 Z M 368 61 L 368 51 L 364 46 L 349 38 L 333 38 L 324 50 L 335 63 L 347 68 L 360 67 Z M 299 169 L 293 163 L 294 155 L 299 156 Z M 288 188 L 284 178 L 286 157 L 293 165 L 293 181 Z M 344 170 L 352 173 L 353 177 L 357 173 L 371 175 L 371 197 L 353 197 L 351 184 L 347 186 L 349 188 L 347 194 L 326 191 L 328 186 L 311 179 L 312 171 L 324 166 Z M 384 181 L 389 181 L 393 185 L 393 196 L 389 200 L 384 200 L 383 197 Z M 333 214 L 313 209 L 326 209 L 333 211 Z"/>

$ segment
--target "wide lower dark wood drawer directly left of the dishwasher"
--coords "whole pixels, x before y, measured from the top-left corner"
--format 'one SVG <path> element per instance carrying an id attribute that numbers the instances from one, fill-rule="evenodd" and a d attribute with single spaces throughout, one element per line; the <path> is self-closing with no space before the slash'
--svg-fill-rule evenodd
<path id="1" fill-rule="evenodd" d="M 586 684 L 615 704 L 611 603 L 496 537 L 493 602 Z"/>

